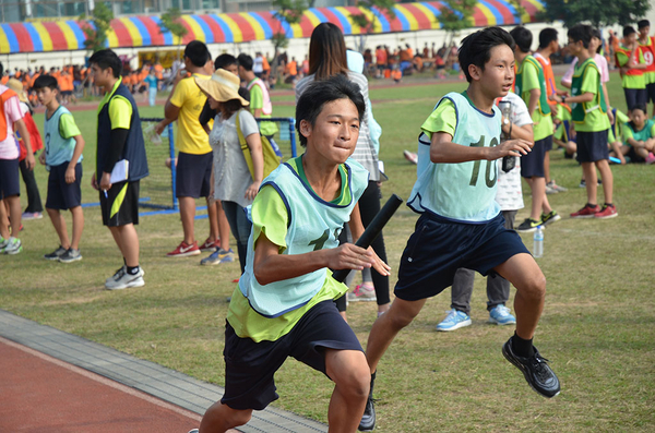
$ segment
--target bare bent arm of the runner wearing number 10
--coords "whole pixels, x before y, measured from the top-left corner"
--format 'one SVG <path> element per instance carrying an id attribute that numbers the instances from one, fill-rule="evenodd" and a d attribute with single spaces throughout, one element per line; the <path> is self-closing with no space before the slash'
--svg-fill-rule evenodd
<path id="1" fill-rule="evenodd" d="M 493 160 L 505 156 L 527 155 L 534 144 L 525 140 L 508 140 L 498 146 L 463 146 L 453 143 L 453 136 L 445 132 L 432 134 L 430 160 L 434 164 L 457 164 L 472 160 Z"/>

